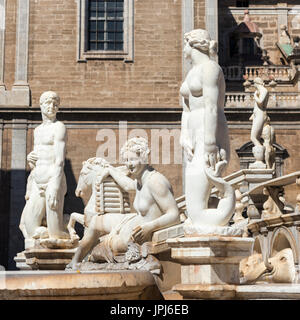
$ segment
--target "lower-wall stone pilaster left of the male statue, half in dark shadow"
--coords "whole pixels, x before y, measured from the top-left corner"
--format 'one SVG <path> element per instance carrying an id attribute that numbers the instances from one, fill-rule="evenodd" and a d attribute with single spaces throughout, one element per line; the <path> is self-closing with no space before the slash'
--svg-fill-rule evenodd
<path id="1" fill-rule="evenodd" d="M 20 218 L 25 205 L 26 192 L 26 140 L 27 123 L 14 119 L 12 127 L 10 216 L 8 268 L 15 269 L 14 256 L 24 249 L 24 239 L 19 230 Z"/>

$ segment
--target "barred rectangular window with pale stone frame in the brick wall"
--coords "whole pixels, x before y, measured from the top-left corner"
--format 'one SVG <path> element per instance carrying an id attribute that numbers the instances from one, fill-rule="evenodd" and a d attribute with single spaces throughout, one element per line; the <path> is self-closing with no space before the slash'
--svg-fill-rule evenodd
<path id="1" fill-rule="evenodd" d="M 133 60 L 133 1 L 79 0 L 78 61 Z"/>

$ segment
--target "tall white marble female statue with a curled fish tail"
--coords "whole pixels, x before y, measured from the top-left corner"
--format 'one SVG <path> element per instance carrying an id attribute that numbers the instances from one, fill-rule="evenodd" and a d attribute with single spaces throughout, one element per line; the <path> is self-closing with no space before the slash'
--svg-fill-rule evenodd
<path id="1" fill-rule="evenodd" d="M 180 88 L 183 102 L 180 143 L 186 158 L 186 224 L 226 226 L 235 208 L 234 189 L 221 178 L 229 161 L 229 135 L 224 114 L 225 80 L 213 57 L 217 43 L 207 31 L 184 35 L 184 54 L 192 61 Z M 223 194 L 216 209 L 208 209 L 213 186 Z"/>

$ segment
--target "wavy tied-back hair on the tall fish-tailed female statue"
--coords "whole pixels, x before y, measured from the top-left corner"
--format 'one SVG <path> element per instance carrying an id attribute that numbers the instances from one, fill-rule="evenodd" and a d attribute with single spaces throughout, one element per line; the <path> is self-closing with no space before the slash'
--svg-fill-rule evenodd
<path id="1" fill-rule="evenodd" d="M 185 33 L 185 54 L 188 56 L 189 47 L 197 49 L 209 56 L 214 56 L 218 51 L 218 44 L 215 40 L 211 40 L 209 33 L 204 29 L 195 29 Z"/>

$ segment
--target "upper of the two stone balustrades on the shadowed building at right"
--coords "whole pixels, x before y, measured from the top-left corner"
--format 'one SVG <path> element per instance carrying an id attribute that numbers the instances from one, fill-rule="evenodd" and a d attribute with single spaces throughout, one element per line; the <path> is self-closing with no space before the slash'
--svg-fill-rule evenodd
<path id="1" fill-rule="evenodd" d="M 290 66 L 252 66 L 245 67 L 245 77 L 249 81 L 253 81 L 256 77 L 260 77 L 264 81 L 270 79 L 276 82 L 290 82 L 294 79 L 296 70 Z"/>

